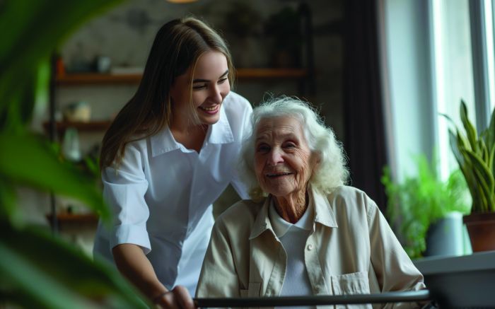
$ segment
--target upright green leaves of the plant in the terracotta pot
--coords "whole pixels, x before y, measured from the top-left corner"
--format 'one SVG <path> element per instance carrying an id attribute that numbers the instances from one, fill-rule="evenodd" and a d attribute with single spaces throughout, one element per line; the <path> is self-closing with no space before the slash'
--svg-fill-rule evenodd
<path id="1" fill-rule="evenodd" d="M 447 117 L 451 122 L 452 119 Z M 450 148 L 459 163 L 472 197 L 473 213 L 495 211 L 495 110 L 491 112 L 489 127 L 477 134 L 467 117 L 467 107 L 460 102 L 460 119 L 465 132 L 455 127 L 449 130 Z"/>

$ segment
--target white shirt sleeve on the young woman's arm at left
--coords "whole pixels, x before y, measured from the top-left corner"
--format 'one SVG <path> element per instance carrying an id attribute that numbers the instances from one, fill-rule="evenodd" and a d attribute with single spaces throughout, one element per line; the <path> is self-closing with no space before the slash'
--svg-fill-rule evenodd
<path id="1" fill-rule="evenodd" d="M 122 243 L 139 245 L 151 251 L 146 231 L 149 209 L 144 200 L 148 181 L 144 176 L 141 152 L 129 144 L 122 163 L 103 170 L 103 196 L 112 211 L 110 250 Z"/>

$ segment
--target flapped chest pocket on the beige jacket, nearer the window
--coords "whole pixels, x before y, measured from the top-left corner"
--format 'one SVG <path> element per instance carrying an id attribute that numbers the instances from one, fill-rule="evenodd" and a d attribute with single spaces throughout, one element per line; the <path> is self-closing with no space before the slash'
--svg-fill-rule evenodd
<path id="1" fill-rule="evenodd" d="M 334 295 L 369 294 L 368 272 L 354 272 L 331 276 Z M 371 304 L 336 305 L 335 308 L 372 308 Z"/>

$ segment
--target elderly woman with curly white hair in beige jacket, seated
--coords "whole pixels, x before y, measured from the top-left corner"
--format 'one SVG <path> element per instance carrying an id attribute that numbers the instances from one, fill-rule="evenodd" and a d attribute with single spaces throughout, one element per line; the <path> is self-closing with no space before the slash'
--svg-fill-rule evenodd
<path id="1" fill-rule="evenodd" d="M 375 202 L 344 185 L 342 147 L 307 103 L 276 98 L 255 108 L 252 118 L 240 164 L 252 200 L 217 219 L 197 297 L 425 287 Z"/>

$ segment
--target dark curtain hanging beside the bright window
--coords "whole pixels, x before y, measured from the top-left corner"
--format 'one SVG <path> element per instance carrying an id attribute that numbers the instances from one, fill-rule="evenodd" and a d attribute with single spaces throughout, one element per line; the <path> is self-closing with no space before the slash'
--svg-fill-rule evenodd
<path id="1" fill-rule="evenodd" d="M 350 185 L 382 209 L 386 196 L 380 177 L 386 161 L 377 0 L 343 0 L 344 148 L 351 170 Z"/>

